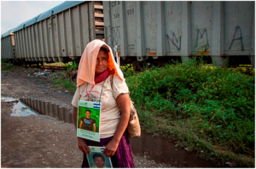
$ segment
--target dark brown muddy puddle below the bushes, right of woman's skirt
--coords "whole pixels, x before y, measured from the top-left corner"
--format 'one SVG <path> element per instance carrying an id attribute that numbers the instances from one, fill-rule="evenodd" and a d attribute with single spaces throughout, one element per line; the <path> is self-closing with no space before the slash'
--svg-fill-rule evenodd
<path id="1" fill-rule="evenodd" d="M 152 135 L 142 131 L 140 138 L 130 139 L 134 155 L 140 155 L 165 163 L 173 167 L 214 167 L 212 163 L 196 158 L 194 153 L 189 153 L 166 138 L 152 138 Z"/>

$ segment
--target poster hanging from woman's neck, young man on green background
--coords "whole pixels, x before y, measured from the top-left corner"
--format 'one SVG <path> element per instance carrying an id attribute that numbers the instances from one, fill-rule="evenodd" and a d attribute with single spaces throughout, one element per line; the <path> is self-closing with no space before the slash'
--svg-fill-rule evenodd
<path id="1" fill-rule="evenodd" d="M 79 100 L 77 136 L 100 142 L 102 104 Z"/>

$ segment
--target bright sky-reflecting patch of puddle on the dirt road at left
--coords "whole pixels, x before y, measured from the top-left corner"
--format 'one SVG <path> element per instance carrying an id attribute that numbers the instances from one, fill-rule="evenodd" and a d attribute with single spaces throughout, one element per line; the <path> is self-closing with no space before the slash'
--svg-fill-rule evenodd
<path id="1" fill-rule="evenodd" d="M 28 116 L 28 115 L 38 115 L 37 112 L 33 111 L 31 108 L 23 104 L 18 99 L 9 98 L 9 97 L 1 97 L 2 102 L 15 102 L 14 106 L 12 107 L 13 113 L 11 116 Z"/>

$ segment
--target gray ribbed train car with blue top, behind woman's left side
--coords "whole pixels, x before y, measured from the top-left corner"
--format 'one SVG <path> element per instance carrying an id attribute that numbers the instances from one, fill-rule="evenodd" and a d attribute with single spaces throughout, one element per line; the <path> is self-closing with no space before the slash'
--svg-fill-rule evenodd
<path id="1" fill-rule="evenodd" d="M 104 39 L 102 2 L 70 1 L 14 29 L 16 57 L 26 63 L 77 60 L 88 42 Z"/>

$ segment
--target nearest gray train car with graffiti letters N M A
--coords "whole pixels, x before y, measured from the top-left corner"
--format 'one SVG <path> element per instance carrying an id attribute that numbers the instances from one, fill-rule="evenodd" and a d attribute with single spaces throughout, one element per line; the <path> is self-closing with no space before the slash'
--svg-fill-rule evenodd
<path id="1" fill-rule="evenodd" d="M 213 65 L 227 56 L 254 65 L 254 2 L 103 2 L 105 39 L 133 65 L 174 56 L 208 55 Z"/>

